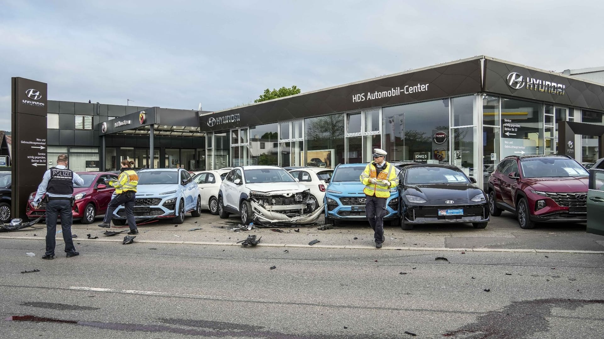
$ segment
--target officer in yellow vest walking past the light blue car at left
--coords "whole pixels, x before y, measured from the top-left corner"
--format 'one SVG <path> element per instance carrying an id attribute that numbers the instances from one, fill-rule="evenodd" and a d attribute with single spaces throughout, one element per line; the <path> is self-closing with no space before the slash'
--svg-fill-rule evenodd
<path id="1" fill-rule="evenodd" d="M 134 165 L 133 161 L 122 160 L 121 174 L 117 178 L 117 181 L 109 181 L 109 186 L 115 187 L 115 197 L 109 202 L 103 223 L 98 224 L 98 227 L 111 227 L 111 216 L 113 215 L 113 212 L 118 206 L 124 205 L 126 219 L 128 220 L 128 226 L 130 226 L 128 234 L 138 234 L 137 221 L 134 220 L 133 212 L 137 193 L 138 174 L 131 170 L 132 165 Z"/>

